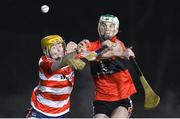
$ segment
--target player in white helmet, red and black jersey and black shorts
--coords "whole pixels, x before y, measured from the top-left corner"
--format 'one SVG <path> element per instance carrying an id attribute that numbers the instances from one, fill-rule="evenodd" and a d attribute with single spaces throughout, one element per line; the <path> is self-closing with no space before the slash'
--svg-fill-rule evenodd
<path id="1" fill-rule="evenodd" d="M 125 61 L 135 55 L 117 38 L 118 30 L 116 16 L 102 15 L 98 23 L 99 39 L 93 42 L 82 40 L 78 44 L 85 51 L 108 47 L 107 52 L 90 61 L 95 82 L 95 118 L 129 118 L 133 109 L 131 96 L 136 93 L 136 88 Z"/>

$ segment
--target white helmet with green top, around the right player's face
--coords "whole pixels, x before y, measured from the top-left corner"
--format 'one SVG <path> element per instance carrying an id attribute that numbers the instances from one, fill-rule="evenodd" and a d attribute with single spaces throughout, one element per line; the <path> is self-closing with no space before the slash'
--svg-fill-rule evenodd
<path id="1" fill-rule="evenodd" d="M 115 27 L 114 27 L 114 29 L 112 31 L 112 34 L 109 35 L 109 36 L 105 36 L 105 34 L 103 34 L 102 31 L 101 31 L 101 28 L 103 27 L 102 23 L 106 23 L 106 22 L 110 22 L 110 23 L 113 23 L 115 25 Z M 102 15 L 100 17 L 99 23 L 98 23 L 98 33 L 99 33 L 99 36 L 103 40 L 114 37 L 118 33 L 118 30 L 119 30 L 119 20 L 118 20 L 118 18 L 116 16 L 106 14 L 106 15 Z"/>

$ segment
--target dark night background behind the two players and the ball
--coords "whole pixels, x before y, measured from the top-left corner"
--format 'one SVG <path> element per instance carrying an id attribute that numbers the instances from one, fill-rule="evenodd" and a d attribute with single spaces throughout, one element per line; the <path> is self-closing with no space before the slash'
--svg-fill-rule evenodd
<path id="1" fill-rule="evenodd" d="M 43 14 L 40 7 L 50 11 Z M 100 15 L 120 20 L 118 37 L 133 46 L 147 81 L 160 95 L 154 110 L 143 108 L 144 92 L 130 66 L 138 93 L 132 117 L 180 117 L 178 0 L 3 0 L 0 7 L 0 117 L 25 117 L 31 91 L 38 83 L 40 39 L 59 34 L 66 42 L 98 38 Z M 69 117 L 92 117 L 90 67 L 76 72 Z"/>

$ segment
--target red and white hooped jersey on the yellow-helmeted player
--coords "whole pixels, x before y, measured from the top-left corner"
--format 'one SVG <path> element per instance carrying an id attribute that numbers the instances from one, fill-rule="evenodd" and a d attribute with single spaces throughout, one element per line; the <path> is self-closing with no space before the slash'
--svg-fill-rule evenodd
<path id="1" fill-rule="evenodd" d="M 65 66 L 52 72 L 54 60 L 42 56 L 39 61 L 39 85 L 32 92 L 32 107 L 47 116 L 61 116 L 69 111 L 74 85 L 74 69 Z"/>

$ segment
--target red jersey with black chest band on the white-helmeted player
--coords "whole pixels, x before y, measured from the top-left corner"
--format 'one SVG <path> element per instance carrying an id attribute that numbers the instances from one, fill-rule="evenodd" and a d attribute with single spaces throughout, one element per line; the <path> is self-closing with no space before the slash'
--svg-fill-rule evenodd
<path id="1" fill-rule="evenodd" d="M 125 49 L 124 43 L 113 37 L 112 42 L 119 43 Z M 90 42 L 88 50 L 100 49 L 101 41 Z M 131 75 L 120 57 L 91 62 L 91 72 L 95 80 L 95 99 L 103 101 L 117 101 L 130 97 L 136 93 Z"/>

